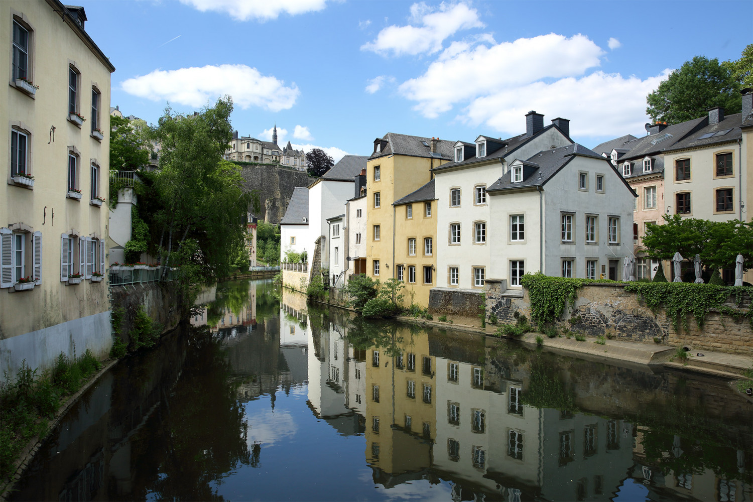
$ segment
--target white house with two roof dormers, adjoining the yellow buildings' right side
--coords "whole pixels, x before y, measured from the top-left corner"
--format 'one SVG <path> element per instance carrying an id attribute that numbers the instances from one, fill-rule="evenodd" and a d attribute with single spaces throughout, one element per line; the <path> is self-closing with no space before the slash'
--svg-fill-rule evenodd
<path id="1" fill-rule="evenodd" d="M 474 143 L 458 141 L 454 162 L 432 169 L 437 197 L 437 287 L 483 291 L 484 273 L 498 249 L 487 245 L 501 229 L 490 216 L 486 188 L 515 159 L 570 145 L 569 120 L 556 118 L 544 127 L 544 115 L 526 115 L 526 132 L 508 139 L 480 135 Z"/>

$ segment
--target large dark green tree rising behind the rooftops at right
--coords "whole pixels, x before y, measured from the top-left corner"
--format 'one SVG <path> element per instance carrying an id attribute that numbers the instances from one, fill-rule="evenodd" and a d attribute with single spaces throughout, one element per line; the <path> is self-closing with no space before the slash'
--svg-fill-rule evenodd
<path id="1" fill-rule="evenodd" d="M 729 65 L 718 59 L 695 56 L 669 75 L 646 96 L 646 114 L 660 122 L 680 123 L 703 117 L 721 106 L 727 114 L 739 113 L 742 97 Z"/>

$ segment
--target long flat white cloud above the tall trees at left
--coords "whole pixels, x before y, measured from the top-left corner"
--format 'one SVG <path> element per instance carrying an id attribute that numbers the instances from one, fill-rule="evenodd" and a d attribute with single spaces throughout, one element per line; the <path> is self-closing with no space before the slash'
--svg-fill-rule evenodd
<path id="1" fill-rule="evenodd" d="M 148 75 L 129 78 L 121 86 L 133 96 L 192 107 L 230 95 L 233 103 L 244 110 L 251 106 L 270 111 L 287 110 L 300 95 L 295 84 L 285 87 L 284 81 L 261 75 L 256 68 L 246 65 L 154 70 Z"/>

